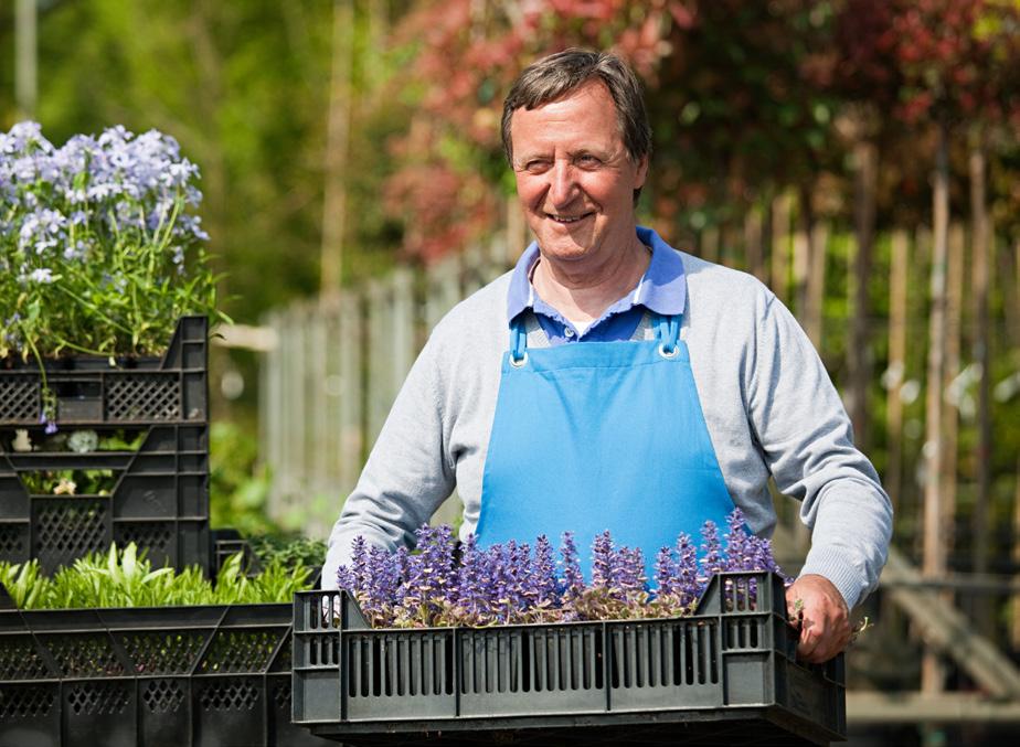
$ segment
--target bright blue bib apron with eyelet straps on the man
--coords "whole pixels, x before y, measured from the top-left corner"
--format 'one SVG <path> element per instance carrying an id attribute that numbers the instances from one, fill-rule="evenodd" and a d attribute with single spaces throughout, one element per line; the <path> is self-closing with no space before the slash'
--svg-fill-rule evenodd
<path id="1" fill-rule="evenodd" d="M 640 547 L 649 579 L 660 547 L 722 529 L 726 491 L 694 387 L 680 317 L 656 339 L 527 348 L 511 326 L 481 488 L 479 544 L 555 546 L 572 531 L 589 577 L 592 540 Z M 720 533 L 722 534 L 722 532 Z"/>

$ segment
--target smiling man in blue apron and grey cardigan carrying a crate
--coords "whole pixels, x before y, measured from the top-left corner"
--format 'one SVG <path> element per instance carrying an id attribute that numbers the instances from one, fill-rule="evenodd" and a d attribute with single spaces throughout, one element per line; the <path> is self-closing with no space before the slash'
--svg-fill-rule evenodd
<path id="1" fill-rule="evenodd" d="M 609 529 L 650 558 L 734 505 L 769 533 L 772 474 L 814 530 L 788 590 L 799 653 L 836 655 L 892 512 L 810 342 L 756 279 L 636 225 L 651 138 L 619 60 L 539 61 L 502 135 L 536 241 L 434 330 L 333 529 L 325 583 L 358 535 L 412 544 L 455 485 L 461 536 L 572 530 L 585 546 Z"/>

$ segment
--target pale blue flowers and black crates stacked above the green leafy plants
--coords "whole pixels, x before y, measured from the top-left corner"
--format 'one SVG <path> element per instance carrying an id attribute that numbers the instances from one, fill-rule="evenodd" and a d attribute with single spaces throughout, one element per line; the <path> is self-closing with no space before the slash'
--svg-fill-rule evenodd
<path id="1" fill-rule="evenodd" d="M 135 542 L 209 569 L 208 338 L 225 317 L 198 180 L 156 130 L 0 134 L 0 558 L 53 572 Z"/>

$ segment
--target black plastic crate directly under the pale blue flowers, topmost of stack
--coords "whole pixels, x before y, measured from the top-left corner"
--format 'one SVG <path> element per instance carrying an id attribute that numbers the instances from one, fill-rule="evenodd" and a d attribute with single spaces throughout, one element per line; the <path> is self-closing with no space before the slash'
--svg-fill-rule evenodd
<path id="1" fill-rule="evenodd" d="M 204 423 L 209 418 L 206 317 L 181 317 L 162 358 L 68 355 L 45 362 L 66 425 Z M 39 425 L 43 377 L 35 361 L 2 361 L 0 428 Z"/>

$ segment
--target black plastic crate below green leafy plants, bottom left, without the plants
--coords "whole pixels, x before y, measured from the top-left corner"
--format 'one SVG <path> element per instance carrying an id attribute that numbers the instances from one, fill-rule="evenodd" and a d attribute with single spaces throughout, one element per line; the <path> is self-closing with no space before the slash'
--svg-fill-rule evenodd
<path id="1" fill-rule="evenodd" d="M 291 606 L 0 610 L 0 747 L 321 747 Z"/>

